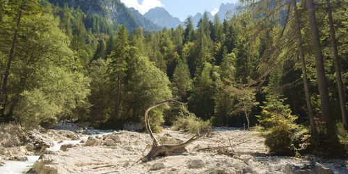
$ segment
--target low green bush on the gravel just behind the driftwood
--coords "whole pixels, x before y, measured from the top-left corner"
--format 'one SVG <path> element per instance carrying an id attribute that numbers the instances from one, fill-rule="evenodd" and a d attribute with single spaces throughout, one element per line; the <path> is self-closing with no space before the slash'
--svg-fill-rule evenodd
<path id="1" fill-rule="evenodd" d="M 209 120 L 203 121 L 197 118 L 193 113 L 190 113 L 188 116 L 177 118 L 172 129 L 190 133 L 197 133 L 197 131 L 202 133 L 211 129 L 211 123 Z"/>

